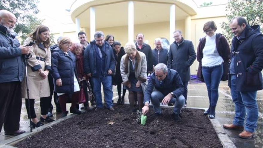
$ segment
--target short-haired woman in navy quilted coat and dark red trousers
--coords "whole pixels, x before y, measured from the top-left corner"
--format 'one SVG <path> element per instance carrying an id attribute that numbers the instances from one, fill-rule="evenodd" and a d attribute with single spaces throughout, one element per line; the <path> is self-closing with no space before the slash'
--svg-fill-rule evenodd
<path id="1" fill-rule="evenodd" d="M 56 49 L 52 53 L 52 77 L 54 80 L 54 91 L 59 97 L 59 104 L 62 109 L 61 117 L 67 115 L 66 103 L 71 98 L 70 112 L 81 114 L 76 109 L 79 98 L 79 83 L 77 80 L 76 57 L 70 51 L 72 41 L 68 37 L 63 37 Z"/>

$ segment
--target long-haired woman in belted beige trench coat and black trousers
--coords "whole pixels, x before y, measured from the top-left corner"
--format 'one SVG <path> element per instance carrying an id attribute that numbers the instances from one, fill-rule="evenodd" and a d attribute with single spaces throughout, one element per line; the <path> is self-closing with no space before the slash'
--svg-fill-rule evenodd
<path id="1" fill-rule="evenodd" d="M 30 54 L 32 57 L 27 59 L 27 73 L 28 73 L 28 89 L 29 89 L 29 104 L 26 101 L 27 115 L 32 118 L 31 125 L 33 127 L 39 127 L 44 125 L 42 122 L 52 122 L 53 119 L 47 116 L 48 108 L 51 104 L 50 88 L 48 83 L 48 73 L 51 70 L 51 52 L 49 49 L 49 29 L 44 25 L 38 25 L 35 30 L 29 34 L 29 37 L 25 40 L 24 45 L 29 45 L 30 42 L 34 42 L 31 46 Z M 22 82 L 22 98 L 27 98 L 27 86 L 26 77 Z M 36 118 L 34 109 L 35 99 L 40 98 L 41 117 L 40 122 Z"/>

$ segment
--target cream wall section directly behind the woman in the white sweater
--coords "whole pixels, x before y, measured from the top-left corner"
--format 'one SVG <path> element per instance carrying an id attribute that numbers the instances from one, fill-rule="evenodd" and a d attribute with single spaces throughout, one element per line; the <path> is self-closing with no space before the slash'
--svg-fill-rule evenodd
<path id="1" fill-rule="evenodd" d="M 205 36 L 205 33 L 203 31 L 203 26 L 208 21 L 214 21 L 217 30 L 215 33 L 222 33 L 223 29 L 221 28 L 221 24 L 223 21 L 227 22 L 226 17 L 216 17 L 216 18 L 205 18 L 205 19 L 192 19 L 191 20 L 191 40 L 195 47 L 195 52 L 197 52 L 197 46 L 199 43 L 199 39 Z M 193 65 L 191 66 L 191 74 L 196 74 L 198 70 L 199 62 L 195 60 Z"/>

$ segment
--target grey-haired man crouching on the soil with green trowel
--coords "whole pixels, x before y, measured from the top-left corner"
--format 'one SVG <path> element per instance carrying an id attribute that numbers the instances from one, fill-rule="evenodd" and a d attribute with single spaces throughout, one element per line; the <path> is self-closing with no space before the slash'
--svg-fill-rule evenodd
<path id="1" fill-rule="evenodd" d="M 155 91 L 153 91 L 155 87 Z M 144 106 L 142 113 L 145 115 L 149 111 L 149 103 L 152 101 L 153 109 L 156 115 L 161 115 L 160 102 L 163 105 L 174 103 L 174 120 L 180 120 L 181 109 L 184 106 L 184 86 L 177 71 L 168 69 L 163 63 L 154 67 L 154 72 L 148 80 L 148 85 L 144 93 Z"/>

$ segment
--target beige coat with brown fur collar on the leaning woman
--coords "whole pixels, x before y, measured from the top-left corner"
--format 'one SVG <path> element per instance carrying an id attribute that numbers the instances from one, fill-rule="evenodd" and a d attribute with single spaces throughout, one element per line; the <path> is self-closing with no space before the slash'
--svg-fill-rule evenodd
<path id="1" fill-rule="evenodd" d="M 137 64 L 135 65 L 135 78 L 141 81 L 141 86 L 143 93 L 147 87 L 147 61 L 146 56 L 143 52 L 137 51 L 136 54 Z M 130 75 L 130 60 L 127 54 L 123 55 L 120 60 L 120 75 L 123 80 L 123 85 L 127 86 L 129 84 Z"/>

